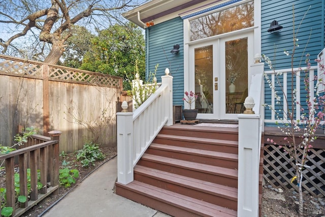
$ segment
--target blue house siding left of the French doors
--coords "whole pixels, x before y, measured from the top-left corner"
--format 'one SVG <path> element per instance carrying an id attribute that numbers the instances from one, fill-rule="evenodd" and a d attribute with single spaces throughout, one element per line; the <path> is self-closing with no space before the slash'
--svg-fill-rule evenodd
<path id="1" fill-rule="evenodd" d="M 173 79 L 173 104 L 183 105 L 184 91 L 184 34 L 183 20 L 178 17 L 163 23 L 151 26 L 146 29 L 147 53 L 147 73 L 154 72 L 155 66 L 159 64 L 157 70 L 157 80 L 161 81 L 161 76 L 165 75 L 165 69 L 169 68 Z M 173 46 L 179 44 L 179 53 L 172 54 Z"/>

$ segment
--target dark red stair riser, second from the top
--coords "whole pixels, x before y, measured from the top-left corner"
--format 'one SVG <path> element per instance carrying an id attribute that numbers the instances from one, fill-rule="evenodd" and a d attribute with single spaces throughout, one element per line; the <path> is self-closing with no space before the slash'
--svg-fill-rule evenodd
<path id="1" fill-rule="evenodd" d="M 158 138 L 158 137 L 154 139 L 153 143 L 238 154 L 238 146 L 236 145 L 230 146 L 225 144 L 208 144 L 208 143 L 200 143 L 194 141 L 181 141 L 181 140 L 165 139 L 165 138 Z"/>

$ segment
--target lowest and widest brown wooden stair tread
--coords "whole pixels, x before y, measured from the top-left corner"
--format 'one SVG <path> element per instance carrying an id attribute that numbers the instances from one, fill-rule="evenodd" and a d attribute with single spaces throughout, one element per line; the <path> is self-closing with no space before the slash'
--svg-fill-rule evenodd
<path id="1" fill-rule="evenodd" d="M 123 185 L 123 184 L 119 184 Z M 124 185 L 128 189 L 132 189 L 139 194 L 145 194 L 149 198 L 162 201 L 179 208 L 191 210 L 197 214 L 205 214 L 208 216 L 237 216 L 237 211 L 221 207 L 215 204 L 204 202 L 198 199 L 187 197 L 177 194 L 168 190 L 154 187 L 153 185 L 146 184 L 139 181 L 133 181 Z"/>

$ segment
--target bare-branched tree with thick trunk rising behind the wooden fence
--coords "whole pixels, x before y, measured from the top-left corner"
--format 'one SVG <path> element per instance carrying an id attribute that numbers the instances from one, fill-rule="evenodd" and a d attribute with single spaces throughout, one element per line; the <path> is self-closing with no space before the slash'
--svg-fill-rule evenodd
<path id="1" fill-rule="evenodd" d="M 0 47 L 2 53 L 44 59 L 56 64 L 66 41 L 78 24 L 103 29 L 103 24 L 121 22 L 119 12 L 139 5 L 139 0 L 8 0 L 0 1 Z M 21 39 L 19 44 L 15 44 Z M 23 45 L 28 52 L 21 49 Z M 26 56 L 27 55 L 27 56 Z"/>

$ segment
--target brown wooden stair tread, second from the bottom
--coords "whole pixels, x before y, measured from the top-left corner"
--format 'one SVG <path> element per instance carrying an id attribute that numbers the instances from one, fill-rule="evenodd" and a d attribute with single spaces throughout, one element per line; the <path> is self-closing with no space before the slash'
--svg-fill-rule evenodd
<path id="1" fill-rule="evenodd" d="M 217 184 L 196 178 L 190 178 L 175 173 L 169 173 L 140 165 L 136 165 L 136 167 L 134 168 L 134 172 L 145 174 L 146 176 L 154 177 L 159 180 L 164 180 L 166 182 L 174 183 L 182 187 L 195 189 L 201 192 L 206 192 L 212 195 L 237 201 L 237 189 L 222 184 Z"/>

